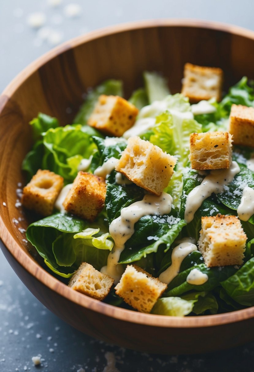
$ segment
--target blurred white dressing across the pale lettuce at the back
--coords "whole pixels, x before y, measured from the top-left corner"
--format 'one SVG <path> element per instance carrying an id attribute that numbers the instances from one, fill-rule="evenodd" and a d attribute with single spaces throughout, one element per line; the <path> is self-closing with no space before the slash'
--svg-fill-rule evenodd
<path id="1" fill-rule="evenodd" d="M 139 112 L 135 124 L 123 134 L 123 137 L 130 138 L 145 133 L 155 125 L 156 116 L 166 110 L 168 110 L 173 116 L 173 123 L 176 126 L 184 119 L 189 120 L 194 118 L 191 111 L 180 112 L 177 109 L 171 109 L 168 107 L 170 104 L 171 101 L 166 98 L 161 101 L 154 101 L 151 105 L 143 107 Z"/>

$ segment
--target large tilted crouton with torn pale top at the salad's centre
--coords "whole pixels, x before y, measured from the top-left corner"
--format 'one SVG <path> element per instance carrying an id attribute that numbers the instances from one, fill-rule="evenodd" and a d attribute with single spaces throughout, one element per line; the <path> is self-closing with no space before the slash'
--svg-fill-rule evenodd
<path id="1" fill-rule="evenodd" d="M 126 149 L 115 166 L 136 185 L 154 195 L 161 195 L 174 173 L 176 159 L 160 147 L 139 137 L 130 137 Z"/>

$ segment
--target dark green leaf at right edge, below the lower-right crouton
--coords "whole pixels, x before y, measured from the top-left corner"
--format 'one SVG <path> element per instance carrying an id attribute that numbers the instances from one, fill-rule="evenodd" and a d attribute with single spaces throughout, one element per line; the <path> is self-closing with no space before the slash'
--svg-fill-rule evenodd
<path id="1" fill-rule="evenodd" d="M 254 257 L 221 283 L 226 293 L 238 304 L 254 305 Z"/>

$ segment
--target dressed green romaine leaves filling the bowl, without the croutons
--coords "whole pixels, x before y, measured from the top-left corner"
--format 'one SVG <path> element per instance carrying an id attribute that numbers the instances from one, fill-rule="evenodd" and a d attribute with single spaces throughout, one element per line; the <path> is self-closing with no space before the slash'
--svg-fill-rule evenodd
<path id="1" fill-rule="evenodd" d="M 212 98 L 191 105 L 184 95 L 171 95 L 162 76 L 145 72 L 144 87 L 134 91 L 128 100 L 139 114 L 122 137 L 105 135 L 88 125 L 101 95 L 122 97 L 123 82 L 111 79 L 89 90 L 71 125 L 61 126 L 63 123 L 59 123 L 57 118 L 39 113 L 30 122 L 34 145 L 23 160 L 22 170 L 26 172 L 28 181 L 39 169 L 54 172 L 63 177 L 67 191 L 79 171 L 96 174 L 98 169 L 104 170 L 103 178 L 107 185 L 104 208 L 94 221 L 89 222 L 67 213 L 62 196 L 61 200 L 57 199 L 52 215 L 44 218 L 34 216 L 35 222 L 27 228 L 26 237 L 43 257 L 47 268 L 64 283 L 69 282 L 83 262 L 98 271 L 107 266 L 108 256 L 114 252 L 109 225 L 119 218 L 123 208 L 142 201 L 148 194 L 143 187 L 117 172 L 115 164 L 107 170 L 103 166 L 112 159 L 118 161 L 121 158 L 128 138 L 139 137 L 158 146 L 163 153 L 174 156 L 177 161 L 171 180 L 163 190 L 171 196 L 172 205 L 169 212 L 148 213 L 136 221 L 133 234 L 119 254 L 118 267 L 120 276 L 127 265 L 132 265 L 145 270 L 153 278 L 163 278 L 162 274 L 173 266 L 175 247 L 186 242 L 196 247 L 201 217 L 237 216 L 244 187 L 254 189 L 254 149 L 234 145 L 232 160 L 237 163 L 239 172 L 219 193 L 212 193 L 204 199 L 193 218 L 186 222 L 188 194 L 201 185 L 208 174 L 191 169 L 190 135 L 227 131 L 233 104 L 254 107 L 254 84 L 243 77 L 220 102 Z M 201 252 L 197 248 L 190 249 L 179 261 L 179 267 L 167 281 L 151 312 L 171 316 L 206 315 L 253 306 L 254 215 L 247 221 L 241 220 L 241 226 L 247 237 L 241 266 L 207 267 Z M 195 269 L 206 278 L 199 285 L 187 281 Z M 119 281 L 119 278 L 113 279 L 115 283 Z M 114 285 L 103 301 L 133 310 L 116 294 Z"/>

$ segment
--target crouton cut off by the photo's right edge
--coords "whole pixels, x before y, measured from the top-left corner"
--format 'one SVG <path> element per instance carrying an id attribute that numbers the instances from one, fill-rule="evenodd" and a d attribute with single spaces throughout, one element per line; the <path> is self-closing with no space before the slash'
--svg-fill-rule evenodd
<path id="1" fill-rule="evenodd" d="M 254 108 L 232 105 L 229 116 L 229 133 L 234 145 L 254 147 Z"/>

